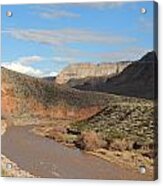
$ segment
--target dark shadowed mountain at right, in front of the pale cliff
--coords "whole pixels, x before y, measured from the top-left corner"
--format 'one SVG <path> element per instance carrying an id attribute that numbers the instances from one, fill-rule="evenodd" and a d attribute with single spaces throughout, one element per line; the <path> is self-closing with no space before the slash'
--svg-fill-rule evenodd
<path id="1" fill-rule="evenodd" d="M 152 51 L 113 77 L 72 80 L 68 84 L 79 90 L 154 99 L 157 97 L 157 66 L 157 56 Z"/>

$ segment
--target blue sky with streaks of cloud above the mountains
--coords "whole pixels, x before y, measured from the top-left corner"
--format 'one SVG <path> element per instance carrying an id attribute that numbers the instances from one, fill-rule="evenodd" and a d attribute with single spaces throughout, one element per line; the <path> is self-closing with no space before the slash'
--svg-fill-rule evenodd
<path id="1" fill-rule="evenodd" d="M 152 1 L 2 6 L 2 66 L 32 76 L 136 60 L 152 49 Z"/>

